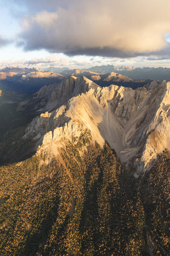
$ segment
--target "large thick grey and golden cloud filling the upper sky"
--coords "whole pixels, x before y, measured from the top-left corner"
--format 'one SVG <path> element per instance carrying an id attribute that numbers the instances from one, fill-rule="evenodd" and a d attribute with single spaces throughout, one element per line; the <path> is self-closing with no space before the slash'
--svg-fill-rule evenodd
<path id="1" fill-rule="evenodd" d="M 41 3 L 40 3 L 41 2 Z M 67 55 L 135 57 L 170 53 L 169 0 L 26 1 L 34 14 L 23 19 L 25 50 Z"/>

